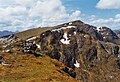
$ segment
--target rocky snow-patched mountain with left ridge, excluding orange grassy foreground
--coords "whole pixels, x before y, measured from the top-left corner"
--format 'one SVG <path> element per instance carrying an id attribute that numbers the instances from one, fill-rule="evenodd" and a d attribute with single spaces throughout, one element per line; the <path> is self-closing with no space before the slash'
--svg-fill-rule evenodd
<path id="1" fill-rule="evenodd" d="M 36 58 L 44 54 L 62 62 L 65 66 L 59 70 L 79 82 L 119 82 L 119 38 L 111 29 L 97 29 L 80 20 L 38 29 L 17 33 L 13 35 L 16 39 L 7 38 L 8 42 L 2 38 L 6 43 L 1 44 L 1 53 L 32 54 Z"/>

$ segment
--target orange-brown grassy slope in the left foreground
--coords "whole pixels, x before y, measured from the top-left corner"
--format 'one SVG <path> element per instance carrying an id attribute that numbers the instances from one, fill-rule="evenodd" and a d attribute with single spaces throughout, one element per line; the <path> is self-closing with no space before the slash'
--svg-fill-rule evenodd
<path id="1" fill-rule="evenodd" d="M 1 54 L 11 65 L 0 65 L 0 82 L 76 82 L 60 68 L 64 65 L 50 57 Z"/>

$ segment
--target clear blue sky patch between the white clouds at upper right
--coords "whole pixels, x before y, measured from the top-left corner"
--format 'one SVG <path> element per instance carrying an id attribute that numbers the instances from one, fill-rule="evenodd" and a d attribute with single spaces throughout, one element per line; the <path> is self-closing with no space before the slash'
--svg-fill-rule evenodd
<path id="1" fill-rule="evenodd" d="M 101 18 L 114 17 L 120 13 L 117 9 L 98 9 L 96 8 L 99 0 L 62 0 L 63 4 L 70 9 L 79 9 L 86 15 L 96 15 Z M 109 0 L 110 1 L 110 0 Z"/>

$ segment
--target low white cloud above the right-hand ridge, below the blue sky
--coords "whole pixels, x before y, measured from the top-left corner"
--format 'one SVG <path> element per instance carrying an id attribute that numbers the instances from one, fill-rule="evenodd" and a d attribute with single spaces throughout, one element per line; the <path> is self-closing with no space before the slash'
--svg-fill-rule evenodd
<path id="1" fill-rule="evenodd" d="M 87 23 L 97 27 L 107 26 L 111 29 L 120 29 L 120 14 L 115 15 L 113 18 L 100 18 L 92 15 L 87 18 Z"/>

